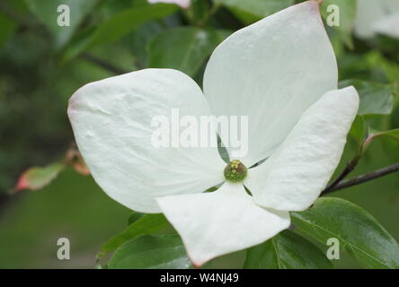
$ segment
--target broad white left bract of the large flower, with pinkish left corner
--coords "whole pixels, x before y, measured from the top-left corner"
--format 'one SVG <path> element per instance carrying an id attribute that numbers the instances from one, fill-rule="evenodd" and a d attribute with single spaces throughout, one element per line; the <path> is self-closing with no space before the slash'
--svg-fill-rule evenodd
<path id="1" fill-rule="evenodd" d="M 75 140 L 104 192 L 142 213 L 159 213 L 154 197 L 200 193 L 224 181 L 217 148 L 158 147 L 155 116 L 209 115 L 197 83 L 181 72 L 146 69 L 89 83 L 69 100 Z"/>

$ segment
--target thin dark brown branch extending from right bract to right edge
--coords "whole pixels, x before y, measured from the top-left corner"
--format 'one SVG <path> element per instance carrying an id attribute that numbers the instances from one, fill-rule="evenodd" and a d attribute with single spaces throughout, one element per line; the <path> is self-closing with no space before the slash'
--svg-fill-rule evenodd
<path id="1" fill-rule="evenodd" d="M 396 172 L 396 171 L 399 171 L 399 162 L 397 162 L 393 165 L 387 166 L 385 168 L 382 168 L 380 170 L 368 172 L 368 173 L 363 174 L 357 178 L 343 180 L 340 183 L 338 183 L 337 185 L 335 185 L 335 187 L 331 187 L 330 189 L 328 189 L 328 187 L 325 188 L 321 195 L 324 196 L 324 195 L 329 194 L 336 190 L 340 190 L 340 189 L 347 188 L 347 187 L 357 186 L 363 182 L 367 182 L 367 181 L 370 181 L 370 180 L 373 180 L 376 178 L 381 178 L 381 177 L 384 177 L 384 176 L 386 176 L 390 173 Z"/>

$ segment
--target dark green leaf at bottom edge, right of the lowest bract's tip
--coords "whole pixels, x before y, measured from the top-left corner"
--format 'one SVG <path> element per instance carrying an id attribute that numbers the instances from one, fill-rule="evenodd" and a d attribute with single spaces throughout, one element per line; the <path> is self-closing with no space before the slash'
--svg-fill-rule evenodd
<path id="1" fill-rule="evenodd" d="M 272 239 L 249 248 L 244 268 L 330 269 L 332 264 L 312 242 L 285 230 Z"/>

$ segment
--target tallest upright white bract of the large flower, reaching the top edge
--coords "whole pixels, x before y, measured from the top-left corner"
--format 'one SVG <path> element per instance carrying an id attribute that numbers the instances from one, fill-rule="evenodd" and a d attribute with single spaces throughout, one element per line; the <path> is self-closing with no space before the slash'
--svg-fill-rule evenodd
<path id="1" fill-rule="evenodd" d="M 248 116 L 249 152 L 243 157 L 227 150 L 250 167 L 270 156 L 324 92 L 337 89 L 337 79 L 319 6 L 307 1 L 222 42 L 209 59 L 204 94 L 216 116 Z"/>

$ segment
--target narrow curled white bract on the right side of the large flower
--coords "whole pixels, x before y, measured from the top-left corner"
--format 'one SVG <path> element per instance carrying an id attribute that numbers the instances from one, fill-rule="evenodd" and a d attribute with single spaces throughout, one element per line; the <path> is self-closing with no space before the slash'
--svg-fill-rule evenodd
<path id="1" fill-rule="evenodd" d="M 359 109 L 353 87 L 326 92 L 306 110 L 269 159 L 248 170 L 254 201 L 283 211 L 306 210 L 332 177 Z"/>

